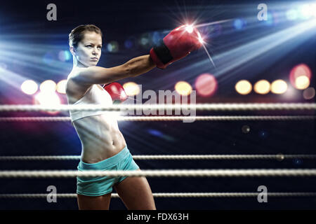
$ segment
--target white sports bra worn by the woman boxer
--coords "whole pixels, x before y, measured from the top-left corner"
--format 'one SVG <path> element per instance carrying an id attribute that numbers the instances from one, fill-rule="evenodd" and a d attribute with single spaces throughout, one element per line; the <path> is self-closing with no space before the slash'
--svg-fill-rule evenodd
<path id="1" fill-rule="evenodd" d="M 78 104 L 94 104 L 102 106 L 112 106 L 112 97 L 110 94 L 98 84 L 93 84 L 90 90 L 84 94 L 73 105 Z M 108 113 L 108 111 L 70 111 L 70 119 L 72 121 L 88 116 L 99 115 L 102 113 Z"/>

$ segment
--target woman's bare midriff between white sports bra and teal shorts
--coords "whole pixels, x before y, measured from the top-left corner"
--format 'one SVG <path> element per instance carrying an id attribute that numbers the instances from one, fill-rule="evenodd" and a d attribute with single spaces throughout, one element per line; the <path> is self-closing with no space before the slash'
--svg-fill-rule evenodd
<path id="1" fill-rule="evenodd" d="M 73 124 L 82 144 L 82 162 L 100 162 L 117 155 L 126 146 L 117 120 L 106 114 L 74 120 Z"/>

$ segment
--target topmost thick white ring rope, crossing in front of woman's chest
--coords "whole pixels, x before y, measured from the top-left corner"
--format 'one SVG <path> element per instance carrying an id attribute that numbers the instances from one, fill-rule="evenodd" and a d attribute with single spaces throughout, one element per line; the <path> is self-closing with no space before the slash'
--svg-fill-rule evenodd
<path id="1" fill-rule="evenodd" d="M 129 110 L 196 110 L 196 111 L 268 111 L 268 110 L 315 110 L 312 103 L 249 103 L 249 104 L 114 104 L 102 105 L 0 105 L 0 111 L 129 111 Z"/>

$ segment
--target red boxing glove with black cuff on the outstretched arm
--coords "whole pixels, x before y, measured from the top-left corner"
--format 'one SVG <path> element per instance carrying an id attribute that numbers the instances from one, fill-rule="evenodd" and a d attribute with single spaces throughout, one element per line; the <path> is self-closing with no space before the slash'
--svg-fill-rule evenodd
<path id="1" fill-rule="evenodd" d="M 192 50 L 202 47 L 202 37 L 197 28 L 183 25 L 173 29 L 157 45 L 150 50 L 150 57 L 159 69 L 181 59 Z"/>

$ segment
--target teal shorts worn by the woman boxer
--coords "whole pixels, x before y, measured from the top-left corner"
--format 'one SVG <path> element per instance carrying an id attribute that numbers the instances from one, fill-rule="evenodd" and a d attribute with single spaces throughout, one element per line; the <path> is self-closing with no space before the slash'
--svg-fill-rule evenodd
<path id="1" fill-rule="evenodd" d="M 123 148 L 117 155 L 96 163 L 86 163 L 80 160 L 79 171 L 84 170 L 136 170 L 139 169 L 133 160 L 129 148 Z M 127 176 L 77 176 L 77 194 L 86 196 L 100 196 L 112 193 L 112 186 L 126 179 Z"/>

